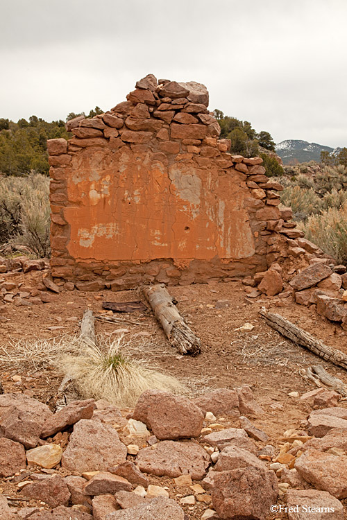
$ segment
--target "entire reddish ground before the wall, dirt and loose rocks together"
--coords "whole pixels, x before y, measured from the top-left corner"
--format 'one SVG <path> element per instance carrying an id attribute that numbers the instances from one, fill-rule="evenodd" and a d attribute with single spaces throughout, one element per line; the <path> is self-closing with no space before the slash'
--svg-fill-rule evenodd
<path id="1" fill-rule="evenodd" d="M 328 503 L 326 507 L 335 508 L 329 518 L 343 518 L 346 402 L 325 390 L 305 396 L 316 389 L 300 370 L 319 364 L 344 383 L 346 373 L 282 338 L 258 311 L 266 306 L 347 354 L 346 332 L 338 323 L 318 315 L 314 304 L 296 304 L 286 284 L 280 295 L 255 298 L 248 296 L 249 286 L 241 281 L 172 287 L 178 310 L 201 338 L 203 351 L 196 358 L 174 352 L 150 310 L 120 315 L 139 324 L 97 322 L 96 331 L 112 336 L 115 330 L 125 329 L 126 339 L 141 337 L 144 345 L 139 356 L 194 383 L 198 396 L 218 388 L 228 392 L 210 395 L 205 401 L 195 397 L 193 403 L 165 397 L 169 401 L 160 404 L 158 396 L 147 395 L 154 410 L 151 417 L 143 401 L 135 414 L 133 409 L 119 411 L 104 402 L 84 401 L 52 415 L 62 381 L 60 367 L 34 365 L 30 358 L 18 363 L 15 342 L 73 335 L 84 309 L 89 306 L 101 314 L 104 300 L 144 299 L 139 289 L 55 293 L 54 286 L 47 287 L 51 284 L 46 266 L 41 267 L 1 275 L 0 358 L 5 394 L 0 396 L 0 487 L 10 506 L 6 510 L 5 501 L 0 503 L 1 519 L 87 520 L 93 513 L 103 520 L 112 511 L 110 520 L 169 516 L 183 520 L 184 515 L 200 520 L 214 511 L 221 518 L 240 514 L 231 507 L 244 508 L 242 512 L 248 515 L 288 518 L 285 512 L 271 513 L 272 503 L 314 507 Z M 246 323 L 254 328 L 244 327 Z M 250 385 L 255 400 L 246 386 L 233 390 L 243 385 Z M 168 407 L 171 413 L 164 413 Z M 138 423 L 134 429 L 133 419 L 146 424 L 146 430 Z M 181 436 L 185 439 L 180 440 Z M 95 470 L 101 473 L 90 474 Z M 246 486 L 246 492 L 238 482 Z M 234 506 L 228 501 L 230 487 L 242 496 Z M 249 504 L 245 496 L 251 496 Z M 127 510 L 135 503 L 137 509 Z M 298 518 L 293 514 L 289 513 L 289 519 Z"/>

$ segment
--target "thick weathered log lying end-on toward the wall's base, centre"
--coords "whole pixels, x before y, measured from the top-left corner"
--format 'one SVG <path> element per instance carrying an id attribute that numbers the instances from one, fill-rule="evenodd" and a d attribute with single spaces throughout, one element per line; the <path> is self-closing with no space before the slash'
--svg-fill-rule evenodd
<path id="1" fill-rule="evenodd" d="M 192 356 L 199 354 L 201 352 L 201 341 L 192 329 L 189 329 L 176 309 L 173 297 L 164 284 L 145 287 L 144 295 L 172 347 L 176 347 L 180 354 L 192 354 Z"/>

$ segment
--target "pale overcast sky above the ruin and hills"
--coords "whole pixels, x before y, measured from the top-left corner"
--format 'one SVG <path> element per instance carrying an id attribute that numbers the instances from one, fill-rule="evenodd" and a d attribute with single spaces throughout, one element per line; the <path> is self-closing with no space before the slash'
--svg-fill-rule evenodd
<path id="1" fill-rule="evenodd" d="M 0 0 L 0 117 L 108 110 L 153 73 L 276 142 L 347 146 L 346 0 Z"/>

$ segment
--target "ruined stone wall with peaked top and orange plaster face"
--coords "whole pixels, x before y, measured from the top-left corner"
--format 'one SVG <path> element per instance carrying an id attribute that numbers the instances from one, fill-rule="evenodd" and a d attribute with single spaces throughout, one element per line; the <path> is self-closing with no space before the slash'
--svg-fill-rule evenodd
<path id="1" fill-rule="evenodd" d="M 207 107 L 203 85 L 150 74 L 48 141 L 53 277 L 114 291 L 228 280 L 266 270 L 283 234 L 300 234 L 262 159 L 230 155 Z"/>

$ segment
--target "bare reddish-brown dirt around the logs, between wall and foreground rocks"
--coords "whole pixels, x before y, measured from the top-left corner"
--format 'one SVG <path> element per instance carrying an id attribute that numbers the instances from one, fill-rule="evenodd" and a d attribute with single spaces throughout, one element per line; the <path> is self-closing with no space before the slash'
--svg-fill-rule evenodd
<path id="1" fill-rule="evenodd" d="M 38 273 L 15 277 L 6 275 L 6 281 L 33 285 Z M 21 279 L 22 277 L 22 279 Z M 269 435 L 269 444 L 279 447 L 283 433 L 289 428 L 301 428 L 301 422 L 312 408 L 306 401 L 298 397 L 290 397 L 289 392 L 300 394 L 315 387 L 308 383 L 299 373 L 302 368 L 319 364 L 329 374 L 339 377 L 347 384 L 347 374 L 342 368 L 325 363 L 314 354 L 294 345 L 279 333 L 271 329 L 258 314 L 262 306 L 283 315 L 298 327 L 312 333 L 323 340 L 326 345 L 335 347 L 347 354 L 346 332 L 325 318 L 317 315 L 314 309 L 299 306 L 291 297 L 260 297 L 260 301 L 251 300 L 244 291 L 241 281 L 228 283 L 196 284 L 191 286 L 175 286 L 169 288 L 170 293 L 178 300 L 178 310 L 185 317 L 189 326 L 201 338 L 202 352 L 195 358 L 180 356 L 164 336 L 151 310 L 143 313 L 117 314 L 119 318 L 134 320 L 139 324 L 110 324 L 96 322 L 96 332 L 112 335 L 117 329 L 126 329 L 126 339 L 151 338 L 148 351 L 142 356 L 153 360 L 162 370 L 177 376 L 184 381 L 197 381 L 199 390 L 205 388 L 233 388 L 249 384 L 253 388 L 255 399 L 264 408 L 264 415 L 254 419 L 257 427 Z M 103 300 L 126 302 L 146 300 L 141 291 L 121 291 L 112 293 L 82 293 L 80 291 L 62 292 L 56 300 L 34 306 L 14 306 L 8 304 L 8 311 L 1 314 L 8 321 L 0 323 L 1 347 L 3 352 L 13 352 L 13 342 L 20 338 L 55 338 L 64 334 L 78 332 L 78 320 L 81 320 L 84 309 L 89 306 L 94 313 L 101 313 Z M 228 300 L 228 306 L 223 306 Z M 67 319 L 70 319 L 67 321 Z M 74 318 L 74 320 L 72 320 Z M 4 320 L 3 320 L 4 321 Z M 238 331 L 246 322 L 254 325 L 250 332 Z M 56 395 L 62 380 L 58 367 L 46 367 L 44 370 L 18 367 L 1 367 L 0 379 L 5 392 L 24 391 L 27 395 L 50 404 Z M 21 381 L 13 381 L 13 376 L 22 376 Z M 17 379 L 17 378 L 15 378 Z M 343 403 L 341 406 L 346 406 Z M 239 427 L 238 419 L 218 417 L 218 422 L 226 426 Z M 13 496 L 10 479 L 3 479 L 8 493 Z M 171 479 L 151 477 L 151 483 L 167 485 L 171 498 L 177 494 L 192 494 L 192 490 L 175 488 Z M 190 493 L 189 493 L 190 491 Z M 17 505 L 17 503 L 13 504 Z M 208 504 L 196 503 L 194 506 L 183 506 L 192 520 L 201 518 Z M 269 518 L 286 518 L 284 514 L 275 514 Z"/>

